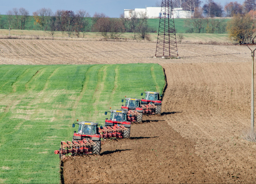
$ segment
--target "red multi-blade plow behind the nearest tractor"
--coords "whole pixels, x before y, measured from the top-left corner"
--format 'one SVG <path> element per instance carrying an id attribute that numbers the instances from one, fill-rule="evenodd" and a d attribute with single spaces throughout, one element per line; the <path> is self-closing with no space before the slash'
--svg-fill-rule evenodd
<path id="1" fill-rule="evenodd" d="M 78 141 L 61 141 L 61 148 L 55 150 L 54 154 L 59 154 L 60 159 L 64 159 L 68 153 L 87 155 L 93 154 L 93 146 L 96 143 L 92 140 L 78 140 Z"/>

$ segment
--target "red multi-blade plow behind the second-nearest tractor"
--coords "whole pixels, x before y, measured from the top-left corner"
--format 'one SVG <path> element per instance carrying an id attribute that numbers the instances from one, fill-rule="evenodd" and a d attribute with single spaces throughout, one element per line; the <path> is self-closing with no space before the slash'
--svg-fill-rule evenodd
<path id="1" fill-rule="evenodd" d="M 103 129 L 99 129 L 100 137 L 103 139 L 110 138 L 123 138 L 124 131 L 127 130 L 126 127 L 122 125 L 114 125 L 103 127 Z"/>

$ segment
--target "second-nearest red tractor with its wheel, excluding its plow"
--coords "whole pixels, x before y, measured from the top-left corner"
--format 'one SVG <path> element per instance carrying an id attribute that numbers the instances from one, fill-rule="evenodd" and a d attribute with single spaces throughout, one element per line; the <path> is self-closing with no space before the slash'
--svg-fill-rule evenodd
<path id="1" fill-rule="evenodd" d="M 130 131 L 131 131 L 131 122 L 128 121 L 127 111 L 123 110 L 111 110 L 110 119 L 106 118 L 104 127 L 111 127 L 111 128 L 122 128 L 125 127 L 124 131 L 120 131 L 121 138 L 130 138 Z M 107 115 L 107 111 L 105 115 Z M 112 137 L 112 136 L 111 136 Z"/>

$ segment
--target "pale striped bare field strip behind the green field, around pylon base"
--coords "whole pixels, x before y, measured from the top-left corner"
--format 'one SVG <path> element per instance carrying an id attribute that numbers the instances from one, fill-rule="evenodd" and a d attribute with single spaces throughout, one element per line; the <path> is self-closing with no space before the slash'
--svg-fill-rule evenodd
<path id="1" fill-rule="evenodd" d="M 181 59 L 153 58 L 156 43 L 0 39 L 0 64 L 243 62 L 245 46 L 178 44 Z"/>

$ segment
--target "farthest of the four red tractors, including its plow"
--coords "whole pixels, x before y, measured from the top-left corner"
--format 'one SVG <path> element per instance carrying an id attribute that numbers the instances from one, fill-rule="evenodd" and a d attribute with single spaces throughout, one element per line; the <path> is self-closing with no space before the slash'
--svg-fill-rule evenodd
<path id="1" fill-rule="evenodd" d="M 145 90 L 146 91 L 146 90 Z M 144 114 L 161 114 L 162 101 L 160 101 L 161 94 L 157 92 L 146 91 L 145 99 L 141 99 L 141 107 Z M 141 96 L 143 93 L 141 93 Z"/>

